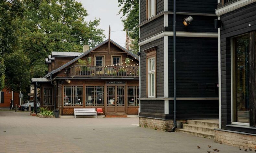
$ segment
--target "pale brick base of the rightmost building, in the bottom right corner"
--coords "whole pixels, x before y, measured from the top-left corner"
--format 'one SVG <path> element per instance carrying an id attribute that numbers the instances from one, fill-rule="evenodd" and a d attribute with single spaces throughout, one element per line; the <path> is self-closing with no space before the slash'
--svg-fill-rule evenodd
<path id="1" fill-rule="evenodd" d="M 256 136 L 215 130 L 214 141 L 240 148 L 256 149 Z"/>

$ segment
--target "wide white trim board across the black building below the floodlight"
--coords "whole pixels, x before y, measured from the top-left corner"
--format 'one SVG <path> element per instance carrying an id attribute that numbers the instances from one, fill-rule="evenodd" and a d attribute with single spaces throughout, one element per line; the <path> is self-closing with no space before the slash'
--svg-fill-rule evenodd
<path id="1" fill-rule="evenodd" d="M 162 31 L 154 36 L 148 37 L 144 40 L 138 42 L 139 46 L 145 45 L 149 42 L 162 38 L 164 36 L 173 36 L 173 31 Z M 218 33 L 211 32 L 182 32 L 177 31 L 176 36 L 178 37 L 209 37 L 209 38 L 217 38 Z"/>

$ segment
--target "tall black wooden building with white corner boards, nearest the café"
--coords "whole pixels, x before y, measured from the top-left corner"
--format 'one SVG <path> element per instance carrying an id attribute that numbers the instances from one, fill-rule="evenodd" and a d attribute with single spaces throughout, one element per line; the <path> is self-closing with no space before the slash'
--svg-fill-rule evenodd
<path id="1" fill-rule="evenodd" d="M 176 8 L 177 119 L 218 118 L 217 1 L 177 0 Z M 189 16 L 193 21 L 185 26 L 183 21 Z M 173 1 L 140 0 L 138 26 L 140 124 L 154 118 L 166 124 L 163 130 L 170 130 L 174 111 Z"/>

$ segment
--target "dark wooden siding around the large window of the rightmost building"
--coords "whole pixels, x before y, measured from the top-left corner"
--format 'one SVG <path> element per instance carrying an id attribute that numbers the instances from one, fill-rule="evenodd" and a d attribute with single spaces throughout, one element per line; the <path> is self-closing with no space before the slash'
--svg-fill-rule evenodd
<path id="1" fill-rule="evenodd" d="M 222 128 L 236 131 L 246 131 L 242 128 L 226 127 L 231 124 L 231 47 L 230 39 L 256 30 L 256 3 L 241 7 L 221 15 L 221 121 Z M 249 23 L 251 26 L 249 27 Z"/>

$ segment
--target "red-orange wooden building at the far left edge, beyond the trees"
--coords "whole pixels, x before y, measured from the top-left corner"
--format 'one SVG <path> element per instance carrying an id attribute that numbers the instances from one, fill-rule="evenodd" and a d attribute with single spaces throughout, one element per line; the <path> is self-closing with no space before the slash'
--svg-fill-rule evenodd
<path id="1" fill-rule="evenodd" d="M 10 108 L 10 101 L 13 100 L 13 108 L 20 104 L 19 93 L 4 88 L 0 91 L 0 108 Z"/>

